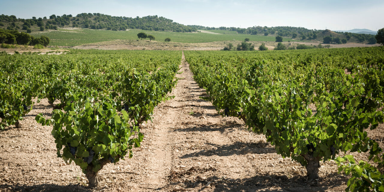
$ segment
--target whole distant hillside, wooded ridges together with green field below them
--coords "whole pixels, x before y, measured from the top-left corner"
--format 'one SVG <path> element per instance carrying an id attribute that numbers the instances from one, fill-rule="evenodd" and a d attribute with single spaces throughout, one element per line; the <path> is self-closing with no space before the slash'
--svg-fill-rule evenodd
<path id="1" fill-rule="evenodd" d="M 50 45 L 76 46 L 109 40 L 134 40 L 137 31 L 156 36 L 156 40 L 171 38 L 181 43 L 205 43 L 213 41 L 244 40 L 275 41 L 275 36 L 283 36 L 283 41 L 307 41 L 322 43 L 324 37 L 336 38 L 333 43 L 372 43 L 373 35 L 350 32 L 334 32 L 331 30 L 310 30 L 291 26 L 253 26 L 248 28 L 205 27 L 200 25 L 182 25 L 173 20 L 154 16 L 146 17 L 114 17 L 101 13 L 81 13 L 76 16 L 51 15 L 48 18 L 22 19 L 14 15 L 0 15 L 0 28 L 30 33 L 38 37 L 50 38 Z M 128 30 L 131 30 L 127 32 Z M 210 34 L 197 34 L 202 31 Z M 194 32 L 194 33 L 185 33 Z M 217 36 L 223 34 L 223 36 Z M 338 40 L 339 39 L 339 40 Z M 376 43 L 376 41 L 374 42 Z"/>

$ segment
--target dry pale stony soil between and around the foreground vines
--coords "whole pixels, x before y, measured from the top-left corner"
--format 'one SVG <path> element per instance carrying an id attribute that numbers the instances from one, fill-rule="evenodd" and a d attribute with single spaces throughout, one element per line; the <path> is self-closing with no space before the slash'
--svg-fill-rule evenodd
<path id="1" fill-rule="evenodd" d="M 243 122 L 222 117 L 199 88 L 185 62 L 171 95 L 143 125 L 144 140 L 132 159 L 108 164 L 99 172 L 99 187 L 89 189 L 81 169 L 56 157 L 51 126 L 35 116 L 51 116 L 46 100 L 36 103 L 21 122 L 0 132 L 0 191 L 282 191 L 342 192 L 348 177 L 338 175 L 333 161 L 321 163 L 320 178 L 281 158 L 262 134 L 248 132 Z M 369 132 L 382 146 L 383 126 Z M 355 154 L 366 159 L 366 154 Z M 206 187 L 205 187 L 206 186 Z"/>

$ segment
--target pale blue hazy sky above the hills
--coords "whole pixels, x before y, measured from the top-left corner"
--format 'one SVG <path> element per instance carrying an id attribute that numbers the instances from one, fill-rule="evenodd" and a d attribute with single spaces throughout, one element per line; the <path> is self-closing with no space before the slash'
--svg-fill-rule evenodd
<path id="1" fill-rule="evenodd" d="M 383 0 L 0 0 L 0 14 L 18 18 L 78 13 L 158 15 L 184 25 L 296 26 L 350 30 L 384 27 Z"/>

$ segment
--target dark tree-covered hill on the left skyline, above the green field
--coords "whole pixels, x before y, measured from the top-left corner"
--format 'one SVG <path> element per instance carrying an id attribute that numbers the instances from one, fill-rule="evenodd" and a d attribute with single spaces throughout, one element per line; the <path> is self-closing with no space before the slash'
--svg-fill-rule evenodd
<path id="1" fill-rule="evenodd" d="M 72 15 L 56 16 L 49 18 L 21 19 L 15 15 L 0 15 L 0 27 L 8 30 L 18 30 L 21 32 L 37 32 L 45 30 L 57 30 L 58 28 L 78 27 L 103 30 L 127 30 L 142 29 L 149 31 L 174 31 L 192 32 L 195 28 L 185 26 L 173 20 L 154 16 L 146 17 L 114 17 L 101 13 L 81 13 L 73 17 Z"/>

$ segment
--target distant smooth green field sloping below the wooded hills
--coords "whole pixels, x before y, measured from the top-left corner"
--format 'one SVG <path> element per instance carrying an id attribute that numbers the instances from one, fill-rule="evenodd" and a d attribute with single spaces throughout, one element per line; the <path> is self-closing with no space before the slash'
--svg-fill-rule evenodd
<path id="1" fill-rule="evenodd" d="M 274 36 L 262 35 L 244 35 L 236 33 L 225 33 L 223 35 L 208 34 L 208 33 L 178 33 L 169 31 L 145 31 L 132 29 L 129 31 L 111 31 L 111 30 L 64 30 L 48 31 L 42 33 L 31 33 L 31 35 L 39 37 L 41 35 L 48 36 L 51 39 L 51 46 L 76 46 L 86 43 L 96 43 L 110 40 L 137 40 L 137 33 L 144 32 L 148 35 L 154 35 L 155 40 L 162 41 L 165 38 L 170 38 L 171 41 L 180 43 L 207 43 L 213 41 L 237 40 L 243 41 L 249 38 L 250 41 L 275 41 Z M 284 41 L 292 41 L 289 38 L 284 38 Z"/>

